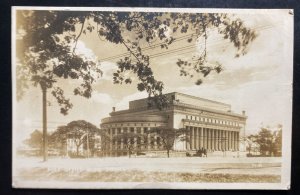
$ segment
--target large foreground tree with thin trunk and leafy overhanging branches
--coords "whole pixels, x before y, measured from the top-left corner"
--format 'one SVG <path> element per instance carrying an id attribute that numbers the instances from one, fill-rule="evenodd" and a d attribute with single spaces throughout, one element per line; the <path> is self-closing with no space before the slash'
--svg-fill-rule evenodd
<path id="1" fill-rule="evenodd" d="M 30 82 L 40 86 L 43 97 L 43 148 L 44 161 L 47 160 L 47 91 L 57 99 L 61 113 L 66 115 L 72 103 L 58 85 L 62 79 L 82 81 L 74 89 L 74 95 L 91 97 L 92 84 L 102 72 L 95 59 L 80 55 L 77 42 L 81 36 L 96 32 L 100 38 L 121 44 L 128 55 L 118 61 L 114 73 L 115 84 L 132 82 L 125 73 L 136 75 L 137 89 L 147 91 L 149 99 L 162 108 L 168 105 L 162 91 L 164 84 L 155 79 L 151 69 L 150 55 L 141 45 L 159 42 L 162 49 L 175 41 L 174 34 L 193 32 L 188 42 L 202 40 L 203 51 L 191 61 L 178 59 L 181 76 L 203 75 L 212 71 L 221 72 L 218 63 L 208 62 L 206 41 L 209 29 L 216 28 L 224 39 L 229 39 L 237 49 L 236 57 L 247 53 L 248 45 L 256 33 L 245 27 L 240 19 L 231 18 L 224 13 L 150 13 L 150 12 L 100 12 L 100 11 L 44 11 L 19 10 L 17 14 L 17 98 L 20 99 Z M 171 35 L 169 32 L 171 31 Z M 202 80 L 197 79 L 196 84 Z"/>

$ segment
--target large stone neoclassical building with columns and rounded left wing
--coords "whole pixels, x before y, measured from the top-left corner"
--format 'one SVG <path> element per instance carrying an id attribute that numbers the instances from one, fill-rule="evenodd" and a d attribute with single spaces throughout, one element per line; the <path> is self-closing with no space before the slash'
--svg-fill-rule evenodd
<path id="1" fill-rule="evenodd" d="M 247 117 L 245 112 L 236 114 L 229 104 L 207 100 L 182 93 L 166 94 L 171 104 L 159 110 L 149 108 L 148 99 L 129 102 L 128 110 L 113 111 L 110 117 L 101 121 L 101 129 L 109 137 L 124 132 L 144 134 L 151 128 L 166 126 L 186 128 L 189 141 L 175 140 L 175 151 L 194 152 L 205 148 L 208 152 L 239 151 L 240 140 L 245 136 Z M 155 137 L 153 144 L 136 143 L 137 151 L 160 151 L 160 138 Z M 149 142 L 150 139 L 140 140 Z M 122 141 L 112 141 L 103 145 L 107 154 L 112 156 L 126 155 L 127 150 Z"/>

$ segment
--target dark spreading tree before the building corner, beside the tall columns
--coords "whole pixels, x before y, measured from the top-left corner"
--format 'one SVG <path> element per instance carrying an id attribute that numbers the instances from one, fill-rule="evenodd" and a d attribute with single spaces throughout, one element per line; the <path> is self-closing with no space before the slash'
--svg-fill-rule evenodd
<path id="1" fill-rule="evenodd" d="M 151 135 L 157 135 L 160 139 L 160 145 L 167 151 L 168 158 L 170 157 L 170 150 L 173 150 L 176 139 L 180 141 L 189 141 L 186 136 L 186 129 L 175 129 L 170 127 L 156 127 L 147 132 Z"/>

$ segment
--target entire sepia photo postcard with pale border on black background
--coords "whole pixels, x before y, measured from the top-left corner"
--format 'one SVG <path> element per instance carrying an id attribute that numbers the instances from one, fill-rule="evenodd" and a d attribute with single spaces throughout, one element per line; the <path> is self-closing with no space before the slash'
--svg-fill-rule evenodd
<path id="1" fill-rule="evenodd" d="M 290 189 L 292 9 L 11 19 L 13 188 Z"/>

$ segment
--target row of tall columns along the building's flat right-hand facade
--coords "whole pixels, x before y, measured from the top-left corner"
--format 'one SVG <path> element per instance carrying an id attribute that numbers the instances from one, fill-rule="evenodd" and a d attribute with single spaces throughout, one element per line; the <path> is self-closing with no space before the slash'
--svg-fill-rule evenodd
<path id="1" fill-rule="evenodd" d="M 188 126 L 187 150 L 239 150 L 239 132 Z"/>

